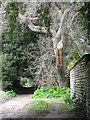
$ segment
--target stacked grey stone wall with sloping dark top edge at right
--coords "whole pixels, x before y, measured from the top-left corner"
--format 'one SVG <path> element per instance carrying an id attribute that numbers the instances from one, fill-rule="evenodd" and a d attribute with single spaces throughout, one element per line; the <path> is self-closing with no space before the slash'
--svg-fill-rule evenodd
<path id="1" fill-rule="evenodd" d="M 84 55 L 70 71 L 71 98 L 79 99 L 90 114 L 90 54 Z"/>

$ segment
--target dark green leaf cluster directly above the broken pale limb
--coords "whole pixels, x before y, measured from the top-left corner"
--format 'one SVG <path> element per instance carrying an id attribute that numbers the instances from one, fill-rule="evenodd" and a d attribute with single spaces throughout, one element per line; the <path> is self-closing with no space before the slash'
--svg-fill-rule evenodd
<path id="1" fill-rule="evenodd" d="M 51 3 L 45 2 L 44 4 L 42 3 L 40 6 L 38 6 L 36 10 L 36 16 L 38 16 L 39 20 L 35 24 L 46 27 L 48 31 L 47 36 L 52 36 L 50 32 L 50 26 L 52 23 L 52 17 L 50 16 L 50 7 Z"/>

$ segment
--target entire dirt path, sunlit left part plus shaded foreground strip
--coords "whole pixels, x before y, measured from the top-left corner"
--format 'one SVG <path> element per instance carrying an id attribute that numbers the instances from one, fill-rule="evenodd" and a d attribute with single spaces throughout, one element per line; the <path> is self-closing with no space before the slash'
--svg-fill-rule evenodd
<path id="1" fill-rule="evenodd" d="M 32 94 L 18 95 L 4 103 L 0 103 L 0 118 L 74 118 L 72 112 L 60 112 L 58 110 L 48 110 L 44 113 L 35 113 L 24 108 L 25 104 L 32 100 Z M 54 104 L 60 106 L 60 103 Z"/>

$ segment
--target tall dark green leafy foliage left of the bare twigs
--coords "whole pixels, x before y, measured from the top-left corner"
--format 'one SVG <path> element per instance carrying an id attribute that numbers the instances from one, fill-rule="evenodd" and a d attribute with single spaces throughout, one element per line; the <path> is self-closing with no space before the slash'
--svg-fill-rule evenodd
<path id="1" fill-rule="evenodd" d="M 20 4 L 8 3 L 6 6 L 6 18 L 8 28 L 3 33 L 3 64 L 2 85 L 9 88 L 20 85 L 20 77 L 30 78 L 26 71 L 29 43 L 37 39 L 37 35 L 29 28 L 17 22 Z"/>

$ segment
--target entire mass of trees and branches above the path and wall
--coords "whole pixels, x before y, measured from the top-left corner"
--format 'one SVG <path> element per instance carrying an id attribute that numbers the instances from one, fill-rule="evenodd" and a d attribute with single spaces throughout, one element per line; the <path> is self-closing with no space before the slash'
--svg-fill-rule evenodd
<path id="1" fill-rule="evenodd" d="M 2 2 L 1 6 L 3 86 L 17 86 L 21 77 L 32 78 L 39 87 L 69 86 L 71 67 L 89 53 L 90 2 Z"/>

